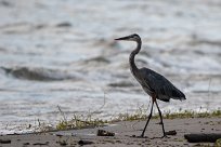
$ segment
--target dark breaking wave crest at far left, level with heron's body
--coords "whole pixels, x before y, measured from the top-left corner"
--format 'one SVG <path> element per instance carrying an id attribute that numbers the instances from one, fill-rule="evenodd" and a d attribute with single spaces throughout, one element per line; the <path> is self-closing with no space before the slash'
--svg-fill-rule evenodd
<path id="1" fill-rule="evenodd" d="M 67 74 L 66 71 L 60 71 L 46 68 L 28 68 L 28 67 L 15 67 L 6 68 L 0 67 L 6 75 L 10 75 L 17 79 L 35 80 L 35 81 L 58 81 L 67 79 L 76 79 L 75 76 Z"/>

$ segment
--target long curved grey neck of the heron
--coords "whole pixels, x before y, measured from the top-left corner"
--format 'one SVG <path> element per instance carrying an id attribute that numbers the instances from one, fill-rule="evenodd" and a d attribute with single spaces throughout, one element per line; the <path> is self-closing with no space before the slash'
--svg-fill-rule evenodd
<path id="1" fill-rule="evenodd" d="M 136 40 L 136 43 L 138 43 L 136 49 L 133 50 L 133 51 L 130 53 L 130 58 L 129 58 L 130 70 L 131 70 L 133 74 L 134 74 L 134 71 L 138 70 L 138 67 L 136 67 L 135 62 L 134 62 L 134 57 L 135 57 L 135 55 L 140 52 L 142 42 L 141 42 L 141 40 Z"/>

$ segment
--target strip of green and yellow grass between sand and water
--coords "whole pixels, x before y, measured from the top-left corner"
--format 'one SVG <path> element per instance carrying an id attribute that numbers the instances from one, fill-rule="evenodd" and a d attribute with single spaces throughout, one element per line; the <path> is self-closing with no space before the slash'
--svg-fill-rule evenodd
<path id="1" fill-rule="evenodd" d="M 86 113 L 84 116 L 75 115 L 73 118 L 68 118 L 60 109 L 62 118 L 56 121 L 56 123 L 48 123 L 44 121 L 36 120 L 35 125 L 32 123 L 23 123 L 13 129 L 6 124 L 5 129 L 0 130 L 0 135 L 12 135 L 12 134 L 32 134 L 39 132 L 57 132 L 57 131 L 68 131 L 68 130 L 79 130 L 88 128 L 105 126 L 107 124 L 117 123 L 120 121 L 145 121 L 147 119 L 146 109 L 138 109 L 133 113 L 119 113 L 113 119 L 103 120 L 101 118 L 92 116 L 91 113 Z M 90 116 L 90 117 L 87 117 Z M 221 118 L 221 110 L 213 111 L 202 111 L 196 112 L 194 110 L 184 110 L 179 112 L 165 112 L 162 115 L 164 119 L 185 119 L 185 118 Z M 159 119 L 159 115 L 154 115 L 152 119 Z M 2 125 L 3 126 L 3 125 Z M 18 130 L 17 130 L 18 129 Z"/>

